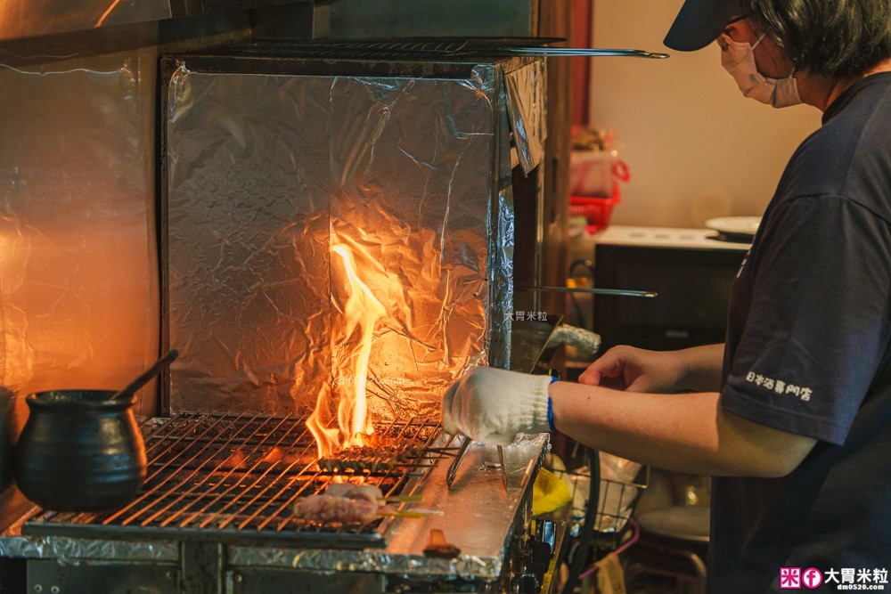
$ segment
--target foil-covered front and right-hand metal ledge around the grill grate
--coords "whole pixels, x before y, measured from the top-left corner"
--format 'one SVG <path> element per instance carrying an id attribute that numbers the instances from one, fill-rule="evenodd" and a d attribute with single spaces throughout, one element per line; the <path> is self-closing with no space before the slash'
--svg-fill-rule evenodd
<path id="1" fill-rule="evenodd" d="M 86 539 L 7 533 L 0 554 L 28 558 L 29 591 L 103 591 L 149 588 L 158 594 L 266 594 L 270 591 L 497 592 L 521 573 L 528 546 L 532 484 L 549 449 L 535 435 L 504 449 L 504 490 L 495 447 L 473 443 L 446 489 L 448 459 L 430 469 L 415 507 L 427 517 L 397 517 L 385 548 L 321 549 L 241 546 L 211 541 Z M 426 557 L 431 529 L 461 549 L 454 559 Z M 459 577 L 460 576 L 460 577 Z M 311 584 L 311 590 L 307 590 Z M 100 590 L 96 590 L 96 588 Z"/>

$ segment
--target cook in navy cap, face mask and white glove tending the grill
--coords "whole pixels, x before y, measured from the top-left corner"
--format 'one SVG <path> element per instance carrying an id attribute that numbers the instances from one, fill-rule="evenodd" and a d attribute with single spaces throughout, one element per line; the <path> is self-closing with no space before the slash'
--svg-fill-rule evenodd
<path id="1" fill-rule="evenodd" d="M 617 346 L 578 383 L 472 369 L 444 396 L 443 425 L 502 444 L 560 431 L 713 476 L 710 592 L 788 590 L 788 567 L 887 584 L 891 2 L 686 0 L 666 45 L 712 42 L 742 94 L 823 112 L 733 281 L 725 343 Z"/>

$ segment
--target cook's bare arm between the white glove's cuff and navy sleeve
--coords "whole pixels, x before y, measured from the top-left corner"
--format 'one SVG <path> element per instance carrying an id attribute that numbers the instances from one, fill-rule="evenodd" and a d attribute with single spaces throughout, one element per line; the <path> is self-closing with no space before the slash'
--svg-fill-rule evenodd
<path id="1" fill-rule="evenodd" d="M 650 466 L 710 476 L 782 476 L 813 440 L 723 413 L 716 392 L 641 394 L 552 384 L 557 429 Z"/>

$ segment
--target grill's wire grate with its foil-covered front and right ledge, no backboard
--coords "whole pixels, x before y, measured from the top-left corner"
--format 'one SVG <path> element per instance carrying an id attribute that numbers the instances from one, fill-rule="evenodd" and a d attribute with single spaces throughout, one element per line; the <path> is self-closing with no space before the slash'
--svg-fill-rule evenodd
<path id="1" fill-rule="evenodd" d="M 133 504 L 103 514 L 36 509 L 22 518 L 21 536 L 4 537 L 0 549 L 28 557 L 29 591 L 53 585 L 109 594 L 513 588 L 531 546 L 532 484 L 547 435 L 504 448 L 507 488 L 495 447 L 472 443 L 450 492 L 444 462 L 455 439 L 435 422 L 379 427 L 381 435 L 427 447 L 409 463 L 364 473 L 364 480 L 388 494 L 416 495 L 421 502 L 407 509 L 425 513 L 370 525 L 314 525 L 290 517 L 290 506 L 323 489 L 331 473 L 318 469 L 315 442 L 296 420 L 191 413 L 151 419 L 143 426 L 149 480 Z M 456 557 L 425 554 L 434 530 L 460 549 Z M 92 590 L 96 584 L 101 590 Z"/>

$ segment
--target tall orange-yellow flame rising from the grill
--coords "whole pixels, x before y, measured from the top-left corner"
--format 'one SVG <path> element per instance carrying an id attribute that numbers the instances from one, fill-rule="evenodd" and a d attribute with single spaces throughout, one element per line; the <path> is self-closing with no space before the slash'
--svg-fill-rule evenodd
<path id="1" fill-rule="evenodd" d="M 352 249 L 339 243 L 331 246 L 331 251 L 343 261 L 349 297 L 343 308 L 346 323 L 342 329 L 338 329 L 340 336 L 336 338 L 339 340 L 335 339 L 335 348 L 342 349 L 345 354 L 335 356 L 332 363 L 334 380 L 343 387 L 338 403 L 337 427 L 332 427 L 331 413 L 323 395 L 319 395 L 315 411 L 307 419 L 307 427 L 315 436 L 315 443 L 319 448 L 319 458 L 343 448 L 361 446 L 364 443 L 363 436 L 374 433 L 372 419 L 368 415 L 365 385 L 368 381 L 374 326 L 387 314 L 372 290 L 356 273 Z M 347 341 L 355 340 L 356 336 L 358 344 L 349 351 Z"/>

